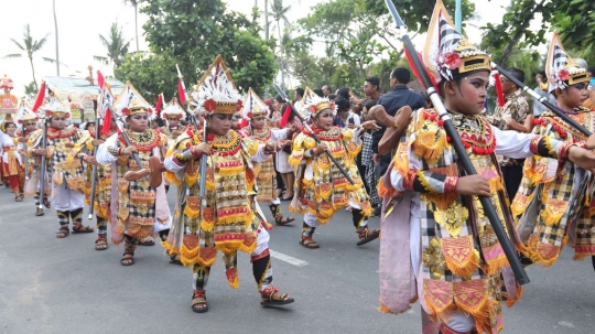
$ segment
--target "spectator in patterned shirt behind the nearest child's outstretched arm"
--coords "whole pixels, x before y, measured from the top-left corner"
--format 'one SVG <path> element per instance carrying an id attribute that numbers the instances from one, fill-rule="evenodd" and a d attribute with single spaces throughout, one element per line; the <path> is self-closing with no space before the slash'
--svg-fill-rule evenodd
<path id="1" fill-rule="evenodd" d="M 513 75 L 519 82 L 524 83 L 524 73 L 519 68 L 508 68 L 508 73 Z M 522 95 L 522 89 L 508 78 L 501 78 L 502 95 L 506 99 L 504 106 L 496 106 L 494 115 L 487 116 L 488 121 L 500 130 L 515 130 L 530 133 L 533 129 L 533 115 L 529 109 L 529 104 Z M 498 157 L 502 177 L 505 181 L 508 200 L 512 201 L 519 190 L 522 179 L 522 164 L 524 160 Z"/>

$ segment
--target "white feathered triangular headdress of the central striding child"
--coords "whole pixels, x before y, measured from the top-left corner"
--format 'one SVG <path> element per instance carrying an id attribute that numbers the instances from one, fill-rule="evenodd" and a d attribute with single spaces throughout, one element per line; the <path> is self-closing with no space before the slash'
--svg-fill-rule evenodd
<path id="1" fill-rule="evenodd" d="M 191 94 L 191 105 L 208 115 L 234 115 L 242 109 L 241 96 L 221 55 L 215 58 Z"/>

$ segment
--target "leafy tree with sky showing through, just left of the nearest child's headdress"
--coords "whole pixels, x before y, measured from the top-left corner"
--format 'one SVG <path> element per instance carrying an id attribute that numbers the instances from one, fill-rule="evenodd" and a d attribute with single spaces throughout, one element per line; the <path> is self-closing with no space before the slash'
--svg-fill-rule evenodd
<path id="1" fill-rule="evenodd" d="M 447 0 L 445 6 L 454 10 L 454 2 Z M 393 0 L 393 3 L 411 32 L 426 31 L 434 0 Z M 473 3 L 463 1 L 463 18 L 469 19 L 474 9 Z M 331 0 L 313 7 L 312 12 L 298 22 L 305 35 L 325 43 L 327 58 L 335 60 L 337 65 L 337 75 L 332 77 L 338 77 L 343 80 L 340 85 L 348 84 L 356 91 L 360 90 L 366 76 L 388 78 L 392 71 L 389 67 L 402 56 L 392 17 L 383 1 Z M 388 61 L 379 61 L 387 57 Z M 380 73 L 374 72 L 377 69 Z"/>

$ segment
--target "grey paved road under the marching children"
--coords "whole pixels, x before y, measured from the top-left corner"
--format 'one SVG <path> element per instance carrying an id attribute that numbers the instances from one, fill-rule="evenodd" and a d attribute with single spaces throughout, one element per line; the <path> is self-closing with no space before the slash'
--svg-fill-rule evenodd
<path id="1" fill-rule="evenodd" d="M 378 243 L 356 247 L 348 213 L 316 231 L 316 250 L 298 245 L 300 226 L 298 218 L 274 228 L 270 243 L 279 257 L 299 260 L 272 263 L 274 283 L 295 303 L 262 309 L 242 254 L 240 288 L 229 288 L 216 263 L 209 312 L 196 314 L 190 308 L 191 269 L 170 265 L 161 246 L 139 247 L 136 265 L 122 267 L 122 246 L 96 251 L 95 234 L 57 239 L 53 209 L 35 217 L 32 200 L 15 203 L 2 187 L 0 333 L 420 333 L 419 304 L 399 316 L 376 310 Z M 553 268 L 528 269 L 532 282 L 522 301 L 505 311 L 505 333 L 595 333 L 595 272 L 589 262 L 571 258 L 569 248 Z"/>

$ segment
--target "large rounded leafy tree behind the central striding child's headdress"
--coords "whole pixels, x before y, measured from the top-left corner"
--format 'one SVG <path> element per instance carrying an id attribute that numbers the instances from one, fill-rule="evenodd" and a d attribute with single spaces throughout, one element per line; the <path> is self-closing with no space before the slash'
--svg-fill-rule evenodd
<path id="1" fill-rule="evenodd" d="M 236 84 L 242 89 L 248 90 L 252 87 L 261 91 L 272 82 L 277 72 L 272 53 L 274 41 L 260 39 L 260 26 L 244 14 L 227 11 L 223 1 L 138 0 L 137 2 L 140 12 L 148 15 L 143 29 L 152 55 L 147 57 L 171 60 L 171 63 L 163 64 L 169 65 L 169 71 L 174 75 L 166 85 L 176 86 L 177 63 L 190 90 L 191 85 L 198 80 L 202 72 L 218 54 L 223 55 Z M 140 60 L 127 57 L 125 62 L 140 62 Z M 152 64 L 154 63 L 150 62 L 147 67 Z M 140 66 L 140 64 L 129 65 Z M 122 74 L 123 71 L 117 73 Z M 130 72 L 127 73 L 132 75 Z M 161 90 L 166 91 L 166 88 L 162 87 Z"/>

